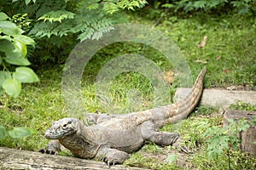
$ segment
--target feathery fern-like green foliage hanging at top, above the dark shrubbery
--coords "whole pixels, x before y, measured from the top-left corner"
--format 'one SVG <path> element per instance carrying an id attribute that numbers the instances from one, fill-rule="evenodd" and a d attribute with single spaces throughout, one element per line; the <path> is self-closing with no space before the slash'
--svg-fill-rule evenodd
<path id="1" fill-rule="evenodd" d="M 81 0 L 73 4 L 73 8 L 65 8 L 71 5 L 71 2 L 67 1 L 63 8 L 59 7 L 58 10 L 41 15 L 29 35 L 62 37 L 78 33 L 80 41 L 98 40 L 105 32 L 113 29 L 112 25 L 117 23 L 116 15 L 120 9 L 135 10 L 135 8 L 142 8 L 146 3 L 145 0 Z M 46 6 L 45 3 L 42 4 L 42 9 L 46 8 L 44 5 Z M 47 5 L 56 8 L 56 4 Z"/>

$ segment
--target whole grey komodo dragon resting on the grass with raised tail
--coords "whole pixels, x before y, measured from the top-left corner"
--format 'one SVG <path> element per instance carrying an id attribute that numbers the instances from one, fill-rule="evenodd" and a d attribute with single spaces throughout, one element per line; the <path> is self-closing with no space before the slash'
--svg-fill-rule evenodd
<path id="1" fill-rule="evenodd" d="M 84 126 L 71 117 L 56 121 L 45 132 L 47 139 L 55 140 L 49 142 L 46 150 L 39 151 L 56 154 L 62 144 L 74 156 L 102 159 L 108 165 L 114 165 L 122 164 L 129 153 L 140 149 L 145 141 L 178 148 L 181 144 L 178 133 L 158 132 L 157 128 L 182 120 L 194 110 L 201 99 L 206 71 L 206 68 L 201 71 L 187 98 L 175 104 L 109 118 L 102 114 L 102 121 L 91 126 Z M 101 119 L 99 114 L 94 116 Z M 181 147 L 181 150 L 188 152 L 186 147 Z"/>

